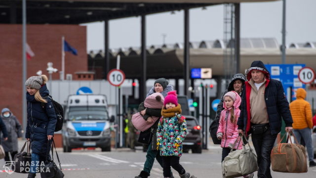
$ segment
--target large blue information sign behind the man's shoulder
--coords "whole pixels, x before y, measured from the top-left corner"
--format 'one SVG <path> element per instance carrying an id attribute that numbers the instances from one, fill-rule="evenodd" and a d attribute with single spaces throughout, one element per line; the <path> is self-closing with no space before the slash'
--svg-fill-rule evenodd
<path id="1" fill-rule="evenodd" d="M 270 72 L 270 77 L 280 81 L 286 95 L 290 95 L 292 100 L 296 99 L 296 89 L 305 88 L 305 84 L 298 79 L 298 72 L 305 67 L 305 64 L 266 64 Z M 287 89 L 292 87 L 292 92 L 287 93 Z"/>

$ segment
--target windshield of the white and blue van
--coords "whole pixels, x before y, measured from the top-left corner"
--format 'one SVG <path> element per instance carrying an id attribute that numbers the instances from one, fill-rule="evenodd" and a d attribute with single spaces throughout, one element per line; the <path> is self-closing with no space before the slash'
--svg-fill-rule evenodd
<path id="1" fill-rule="evenodd" d="M 109 120 L 106 107 L 103 106 L 76 106 L 69 108 L 69 120 Z"/>

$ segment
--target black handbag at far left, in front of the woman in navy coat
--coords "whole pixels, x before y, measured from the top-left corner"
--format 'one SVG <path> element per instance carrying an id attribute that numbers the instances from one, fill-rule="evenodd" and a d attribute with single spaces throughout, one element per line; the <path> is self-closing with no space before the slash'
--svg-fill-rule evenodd
<path id="1" fill-rule="evenodd" d="M 27 152 L 24 151 L 25 145 L 27 144 Z M 30 153 L 30 148 L 31 148 L 31 143 L 29 140 L 27 140 L 20 153 L 17 153 L 14 155 L 13 161 L 14 163 L 12 164 L 12 171 L 16 173 L 23 173 L 23 174 L 28 174 L 30 172 L 30 166 L 31 166 L 31 153 Z"/>

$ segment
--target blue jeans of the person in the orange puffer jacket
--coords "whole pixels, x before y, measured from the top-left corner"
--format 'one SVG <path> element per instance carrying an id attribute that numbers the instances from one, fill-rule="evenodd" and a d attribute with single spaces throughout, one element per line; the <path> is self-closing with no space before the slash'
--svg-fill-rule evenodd
<path id="1" fill-rule="evenodd" d="M 305 129 L 293 129 L 293 133 L 297 139 L 297 141 L 300 143 L 301 138 L 304 139 L 307 153 L 308 153 L 308 160 L 313 161 L 314 160 L 314 150 L 313 150 L 313 144 L 312 144 L 312 131 L 310 128 Z M 296 141 L 295 141 L 296 143 Z"/>

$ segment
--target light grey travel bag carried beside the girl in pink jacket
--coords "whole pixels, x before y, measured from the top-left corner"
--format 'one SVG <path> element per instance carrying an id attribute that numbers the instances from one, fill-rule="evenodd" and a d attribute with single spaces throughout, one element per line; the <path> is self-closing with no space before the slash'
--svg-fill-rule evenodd
<path id="1" fill-rule="evenodd" d="M 244 135 L 243 137 L 245 140 L 247 140 Z M 236 139 L 233 148 L 235 147 L 237 140 L 238 138 Z M 239 139 L 239 143 L 240 140 L 241 139 Z M 233 151 L 233 149 L 231 149 L 231 152 L 228 154 L 228 156 L 225 157 L 222 163 L 222 172 L 224 178 L 237 178 L 241 176 L 246 176 L 257 170 L 257 155 L 249 144 L 247 148 L 245 145 L 243 145 L 242 149 L 240 150 Z"/>

